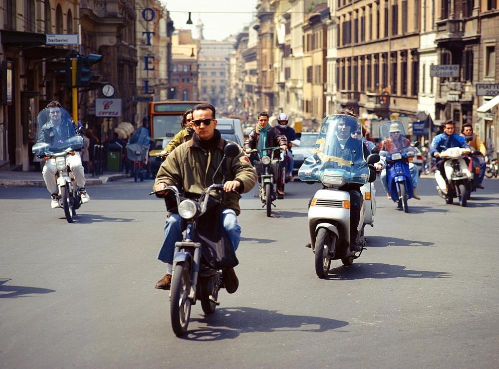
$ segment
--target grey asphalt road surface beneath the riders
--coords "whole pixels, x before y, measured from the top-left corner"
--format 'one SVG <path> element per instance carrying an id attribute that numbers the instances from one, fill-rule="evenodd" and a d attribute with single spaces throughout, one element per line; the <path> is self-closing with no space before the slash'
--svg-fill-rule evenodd
<path id="1" fill-rule="evenodd" d="M 267 218 L 241 200 L 239 290 L 188 335 L 171 329 L 156 260 L 164 205 L 152 182 L 88 187 L 74 223 L 44 188 L 0 188 L 1 368 L 494 368 L 499 365 L 499 181 L 465 208 L 421 178 L 398 210 L 377 183 L 368 248 L 316 277 L 293 182 Z"/>

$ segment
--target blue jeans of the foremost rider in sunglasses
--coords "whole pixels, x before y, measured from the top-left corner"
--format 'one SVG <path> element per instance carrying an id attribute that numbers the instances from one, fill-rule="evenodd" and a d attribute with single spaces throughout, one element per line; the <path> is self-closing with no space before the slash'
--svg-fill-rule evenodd
<path id="1" fill-rule="evenodd" d="M 222 211 L 222 221 L 227 237 L 231 240 L 232 247 L 236 251 L 241 240 L 241 226 L 238 224 L 236 212 L 233 209 L 224 209 Z M 172 214 L 166 218 L 165 240 L 159 251 L 158 260 L 168 264 L 173 263 L 175 242 L 182 241 L 182 232 L 186 227 L 185 219 L 179 214 Z"/>

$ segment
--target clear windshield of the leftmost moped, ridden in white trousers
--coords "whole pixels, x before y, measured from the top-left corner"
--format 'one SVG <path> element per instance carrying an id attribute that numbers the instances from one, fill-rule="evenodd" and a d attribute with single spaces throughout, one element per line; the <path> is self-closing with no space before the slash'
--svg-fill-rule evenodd
<path id="1" fill-rule="evenodd" d="M 50 155 L 83 147 L 83 138 L 74 129 L 69 113 L 58 107 L 46 108 L 36 118 L 36 144 L 34 155 Z"/>

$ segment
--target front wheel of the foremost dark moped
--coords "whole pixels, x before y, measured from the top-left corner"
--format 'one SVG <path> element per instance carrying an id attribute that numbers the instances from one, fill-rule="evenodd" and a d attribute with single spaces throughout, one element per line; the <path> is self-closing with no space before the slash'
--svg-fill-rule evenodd
<path id="1" fill-rule="evenodd" d="M 187 262 L 177 263 L 173 270 L 170 294 L 170 319 L 175 335 L 184 336 L 187 333 L 191 318 L 191 275 Z"/>

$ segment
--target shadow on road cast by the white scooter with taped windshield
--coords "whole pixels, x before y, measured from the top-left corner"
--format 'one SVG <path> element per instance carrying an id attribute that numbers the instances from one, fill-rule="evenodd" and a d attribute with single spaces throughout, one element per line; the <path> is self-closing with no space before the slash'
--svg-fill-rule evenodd
<path id="1" fill-rule="evenodd" d="M 351 266 L 342 265 L 331 269 L 329 275 L 324 279 L 348 281 L 366 278 L 450 278 L 450 276 L 447 272 L 410 270 L 403 265 L 354 263 Z"/>

